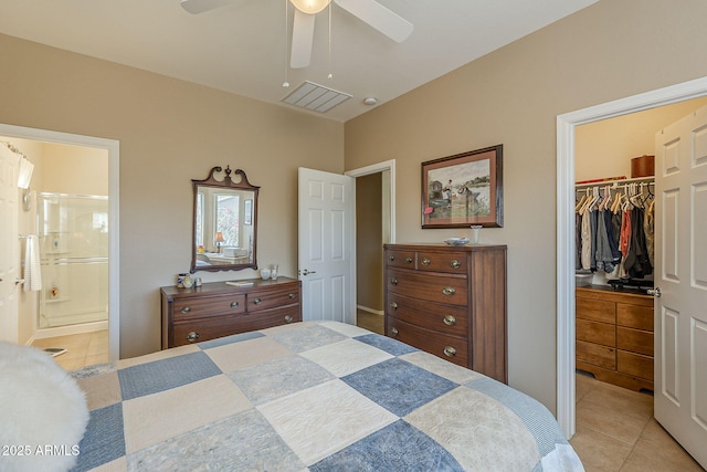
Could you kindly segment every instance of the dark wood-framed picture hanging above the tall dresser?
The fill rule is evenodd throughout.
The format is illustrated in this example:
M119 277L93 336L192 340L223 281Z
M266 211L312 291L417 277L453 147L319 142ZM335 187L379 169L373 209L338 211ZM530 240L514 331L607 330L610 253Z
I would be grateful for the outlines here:
M422 228L503 228L503 144L422 162Z

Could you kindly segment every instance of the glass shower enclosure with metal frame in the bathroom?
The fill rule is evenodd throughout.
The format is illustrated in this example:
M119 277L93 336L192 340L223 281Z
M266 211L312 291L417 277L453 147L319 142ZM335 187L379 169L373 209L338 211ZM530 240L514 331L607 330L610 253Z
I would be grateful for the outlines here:
M108 198L38 193L38 326L108 319Z

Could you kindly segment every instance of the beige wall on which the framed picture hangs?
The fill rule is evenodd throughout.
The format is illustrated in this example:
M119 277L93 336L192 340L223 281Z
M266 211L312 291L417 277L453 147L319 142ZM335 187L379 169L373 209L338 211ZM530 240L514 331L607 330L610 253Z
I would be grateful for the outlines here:
M420 164L504 145L509 384L556 408L556 117L707 75L707 2L602 0L346 124L346 169L395 159L398 242L420 228Z

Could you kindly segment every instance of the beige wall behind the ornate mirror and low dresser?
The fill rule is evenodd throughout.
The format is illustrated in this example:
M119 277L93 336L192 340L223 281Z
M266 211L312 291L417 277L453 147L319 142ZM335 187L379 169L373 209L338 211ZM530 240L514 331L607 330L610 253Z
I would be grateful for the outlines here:
M344 171L342 124L7 35L0 61L0 123L120 143L122 357L160 347L159 287L189 269L191 179L213 166L261 186L258 261L296 276L297 167Z

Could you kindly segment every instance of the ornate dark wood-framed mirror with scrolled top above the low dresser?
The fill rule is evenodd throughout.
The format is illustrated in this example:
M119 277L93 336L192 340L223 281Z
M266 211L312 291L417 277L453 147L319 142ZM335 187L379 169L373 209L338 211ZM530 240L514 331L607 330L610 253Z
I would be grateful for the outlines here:
M223 180L215 178L223 172ZM191 272L257 269L257 191L245 172L214 167L204 180L191 180L194 192Z

